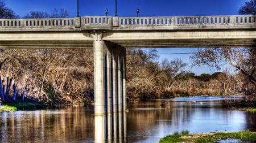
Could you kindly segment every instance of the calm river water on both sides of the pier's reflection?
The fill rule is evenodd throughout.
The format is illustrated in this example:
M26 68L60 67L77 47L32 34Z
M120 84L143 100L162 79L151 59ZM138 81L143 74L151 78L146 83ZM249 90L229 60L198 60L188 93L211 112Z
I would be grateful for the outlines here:
M225 109L223 99L191 97L129 103L123 138L116 142L158 142L161 137L183 130L256 131L255 113ZM93 112L93 106L74 106L0 113L0 142L95 142L94 127L98 122L95 124Z

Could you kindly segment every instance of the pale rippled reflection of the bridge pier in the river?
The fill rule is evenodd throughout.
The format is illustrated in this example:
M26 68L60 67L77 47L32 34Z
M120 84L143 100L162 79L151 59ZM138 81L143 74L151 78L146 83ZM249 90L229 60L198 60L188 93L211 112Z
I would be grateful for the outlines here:
M127 142L126 112L95 116L95 142Z

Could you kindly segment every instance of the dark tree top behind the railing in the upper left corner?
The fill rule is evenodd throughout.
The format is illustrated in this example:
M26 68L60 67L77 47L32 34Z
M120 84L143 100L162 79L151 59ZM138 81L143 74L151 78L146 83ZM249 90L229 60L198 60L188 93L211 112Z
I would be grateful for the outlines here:
M13 10L6 7L5 2L0 1L0 19L16 19L19 18Z

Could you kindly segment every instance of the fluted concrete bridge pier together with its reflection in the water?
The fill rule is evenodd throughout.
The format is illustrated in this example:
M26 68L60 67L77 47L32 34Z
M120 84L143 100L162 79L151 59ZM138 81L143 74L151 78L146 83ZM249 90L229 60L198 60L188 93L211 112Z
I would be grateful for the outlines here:
M102 33L92 37L95 142L126 142L126 50L102 41Z

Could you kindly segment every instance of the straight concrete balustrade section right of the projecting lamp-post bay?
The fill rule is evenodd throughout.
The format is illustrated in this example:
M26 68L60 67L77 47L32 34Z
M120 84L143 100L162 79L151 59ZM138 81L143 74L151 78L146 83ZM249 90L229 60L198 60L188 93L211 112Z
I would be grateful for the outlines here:
M191 29L191 28L251 28L256 27L256 15L175 16L159 18L119 18L121 29Z

